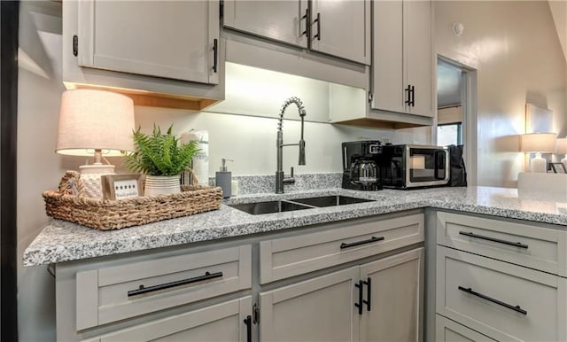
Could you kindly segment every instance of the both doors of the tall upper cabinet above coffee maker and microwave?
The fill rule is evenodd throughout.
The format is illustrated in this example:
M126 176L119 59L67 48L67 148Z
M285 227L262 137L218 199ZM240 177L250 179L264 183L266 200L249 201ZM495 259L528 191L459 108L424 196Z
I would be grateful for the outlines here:
M376 0L373 109L431 117L431 1Z

